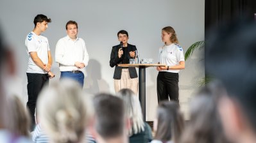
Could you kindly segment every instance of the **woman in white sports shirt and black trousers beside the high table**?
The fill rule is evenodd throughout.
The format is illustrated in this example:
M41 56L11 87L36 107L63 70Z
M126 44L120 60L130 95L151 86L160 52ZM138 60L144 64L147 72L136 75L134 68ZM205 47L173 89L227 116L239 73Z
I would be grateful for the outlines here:
M158 66L157 70L157 99L158 103L163 100L178 100L178 73L185 68L183 49L178 45L178 38L171 26L162 29L162 41L164 46L160 47L158 63L166 66Z

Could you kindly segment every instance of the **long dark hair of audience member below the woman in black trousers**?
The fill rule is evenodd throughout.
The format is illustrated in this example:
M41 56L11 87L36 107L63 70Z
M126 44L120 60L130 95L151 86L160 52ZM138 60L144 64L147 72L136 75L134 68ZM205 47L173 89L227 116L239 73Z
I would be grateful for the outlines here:
M157 108L157 132L155 139L167 142L178 142L184 128L180 106L176 102L160 102Z

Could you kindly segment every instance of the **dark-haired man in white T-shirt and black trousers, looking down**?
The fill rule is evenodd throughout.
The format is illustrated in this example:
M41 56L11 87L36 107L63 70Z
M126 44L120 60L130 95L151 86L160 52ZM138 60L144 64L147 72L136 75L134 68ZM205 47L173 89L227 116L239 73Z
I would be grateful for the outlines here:
M48 27L48 19L46 15L37 15L34 19L35 28L31 31L25 40L28 52L28 69L26 71L28 77L28 103L32 119L31 130L35 126L35 107L37 103L38 93L44 84L49 83L49 78L55 77L51 72L52 57L49 49L49 42L41 33L46 31Z

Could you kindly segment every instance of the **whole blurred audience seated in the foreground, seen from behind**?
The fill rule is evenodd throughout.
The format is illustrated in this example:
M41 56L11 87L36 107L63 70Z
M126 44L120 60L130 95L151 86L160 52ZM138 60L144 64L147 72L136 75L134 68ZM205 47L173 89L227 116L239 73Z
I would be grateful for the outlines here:
M6 96L4 78L15 74L13 54L0 36L0 142L203 143L256 142L256 25L235 22L212 33L206 68L218 82L192 97L189 121L175 101L160 102L153 134L130 89L87 98L78 82L46 86L37 101L37 126L19 96Z

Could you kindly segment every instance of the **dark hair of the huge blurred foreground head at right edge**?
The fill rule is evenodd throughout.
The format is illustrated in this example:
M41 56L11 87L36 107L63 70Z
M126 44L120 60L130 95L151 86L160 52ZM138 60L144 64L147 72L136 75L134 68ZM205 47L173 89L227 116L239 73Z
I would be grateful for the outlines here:
M256 132L256 24L239 19L212 29L205 47L206 72L223 82Z

